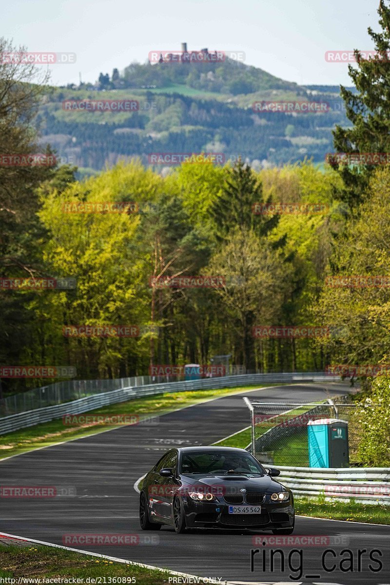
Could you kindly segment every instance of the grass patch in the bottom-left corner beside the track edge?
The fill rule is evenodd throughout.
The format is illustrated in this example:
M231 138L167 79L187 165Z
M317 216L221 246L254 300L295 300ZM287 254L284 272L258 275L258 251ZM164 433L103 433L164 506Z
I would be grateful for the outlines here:
M153 548L153 547L152 547ZM108 556L115 556L115 546L109 546ZM151 550L151 557L153 551ZM137 565L116 563L96 556L81 555L70 550L42 545L0 544L0 577L134 577L137 585L163 585L170 573L146 569ZM5 581L3 581L5 582ZM106 582L109 582L107 579ZM114 581L115 582L115 581ZM128 582L131 582L130 579Z

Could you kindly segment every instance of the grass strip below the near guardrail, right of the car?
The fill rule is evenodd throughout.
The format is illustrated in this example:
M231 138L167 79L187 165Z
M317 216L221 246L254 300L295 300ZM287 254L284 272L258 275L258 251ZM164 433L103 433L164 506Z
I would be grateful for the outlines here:
M367 522L368 524L390 524L390 507L381 504L362 504L354 500L325 501L325 497L295 497L295 514L331 520L349 522Z

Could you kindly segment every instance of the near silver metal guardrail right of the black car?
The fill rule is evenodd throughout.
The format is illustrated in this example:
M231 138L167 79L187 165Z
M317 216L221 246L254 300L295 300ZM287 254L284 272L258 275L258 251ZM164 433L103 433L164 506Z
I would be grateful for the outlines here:
M346 501L353 498L364 504L390 505L390 467L278 466L278 469L282 483L295 495L325 495L326 499Z

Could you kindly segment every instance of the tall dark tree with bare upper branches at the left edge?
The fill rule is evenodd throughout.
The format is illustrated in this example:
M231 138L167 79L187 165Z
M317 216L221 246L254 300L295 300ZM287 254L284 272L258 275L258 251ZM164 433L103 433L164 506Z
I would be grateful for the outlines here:
M23 61L25 47L13 47L0 39L0 274L2 277L42 275L40 240L44 230L36 219L39 201L36 188L53 177L53 166L13 163L13 156L27 156L39 149L35 116L48 81L46 73ZM6 162L10 157L11 164ZM52 160L54 161L54 159ZM0 362L18 363L21 348L32 328L33 315L28 301L33 293L0 290L0 326L4 343ZM13 384L13 382L11 382ZM9 387L9 381L4 383ZM1 394L1 388L0 388ZM0 396L1 398L1 396Z

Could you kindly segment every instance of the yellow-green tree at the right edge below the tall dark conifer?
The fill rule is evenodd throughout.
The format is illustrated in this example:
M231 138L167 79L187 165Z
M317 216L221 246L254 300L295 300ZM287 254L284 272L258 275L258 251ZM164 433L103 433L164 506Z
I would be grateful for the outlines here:
M366 201L337 239L327 280L313 311L336 335L325 340L334 363L378 364L390 359L390 169L371 177ZM334 286L333 277L378 277L384 281L346 281ZM336 281L337 284L337 281Z

